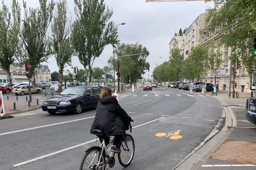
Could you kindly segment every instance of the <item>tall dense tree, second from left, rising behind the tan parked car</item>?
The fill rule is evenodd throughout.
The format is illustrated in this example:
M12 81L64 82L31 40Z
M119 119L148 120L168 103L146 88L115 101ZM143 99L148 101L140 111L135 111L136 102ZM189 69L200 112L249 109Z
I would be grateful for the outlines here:
M13 0L16 4L12 6L15 16L15 24L19 25L20 7L17 0ZM52 12L55 3L51 0L47 5L47 0L39 0L38 8L26 7L23 1L24 18L22 26L19 25L18 48L15 57L18 61L32 65L30 73L35 77L35 68L40 68L42 62L46 62L52 56L52 45L50 38L47 36L47 29L52 21ZM34 83L35 85L35 79Z

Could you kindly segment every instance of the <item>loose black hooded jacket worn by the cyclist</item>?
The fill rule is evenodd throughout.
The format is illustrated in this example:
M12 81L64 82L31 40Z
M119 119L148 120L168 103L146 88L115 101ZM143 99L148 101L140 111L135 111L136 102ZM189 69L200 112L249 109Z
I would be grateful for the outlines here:
M102 97L99 99L90 133L99 129L106 136L124 135L125 128L122 118L131 120L131 117L118 104L116 98L113 96Z

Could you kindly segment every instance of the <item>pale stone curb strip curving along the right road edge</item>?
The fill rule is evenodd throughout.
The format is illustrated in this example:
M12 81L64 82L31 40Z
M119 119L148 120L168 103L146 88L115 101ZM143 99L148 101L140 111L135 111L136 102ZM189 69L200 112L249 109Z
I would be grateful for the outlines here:
M218 97L218 99L220 99ZM227 137L233 132L234 129L230 129L230 126L236 125L236 116L233 112L230 112L230 107L227 103L221 99L221 105L223 106L223 114L226 117L225 125L221 130L217 132L212 130L212 133L204 139L198 147L196 147L189 155L176 165L172 170L199 170L205 161L223 144ZM233 119L233 121L232 121ZM221 119L220 119L221 120ZM218 126L218 125L216 125ZM214 132L215 131L215 132Z

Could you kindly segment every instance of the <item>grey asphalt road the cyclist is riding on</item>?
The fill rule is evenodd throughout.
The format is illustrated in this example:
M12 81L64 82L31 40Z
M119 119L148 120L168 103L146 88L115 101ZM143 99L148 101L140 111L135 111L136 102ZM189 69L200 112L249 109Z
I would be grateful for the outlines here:
M129 170L172 170L212 132L223 112L217 99L177 89L129 91L119 103L134 117L135 155ZM0 169L78 170L84 150L99 144L90 142L96 139L90 134L95 113L50 115L39 109L0 120ZM168 132L182 138L155 136ZM112 169L124 169L117 157Z

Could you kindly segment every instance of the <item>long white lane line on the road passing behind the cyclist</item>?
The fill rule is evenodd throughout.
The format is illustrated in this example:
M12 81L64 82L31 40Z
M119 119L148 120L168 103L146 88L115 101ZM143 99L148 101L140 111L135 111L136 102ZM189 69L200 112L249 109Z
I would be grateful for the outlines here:
M94 117L94 116L93 116L93 117ZM151 120L151 121L149 121L149 122L145 122L145 123L143 123L143 124L134 126L134 127L132 127L132 128L140 127L140 126L146 125L146 124L151 123L151 122L155 122L155 121L160 120L160 119L163 119L163 118L165 118L165 117L160 117L160 118L158 118L158 119L154 119L154 120ZM61 153L61 152L64 152L64 151L67 151L67 150L70 150L70 149L73 149L73 148L76 148L76 147L80 147L80 146L82 146L82 145L84 145L84 144L89 144L89 143L95 142L95 141L96 141L96 139L93 139L93 140L90 140L90 141L87 141L87 142L84 142L84 143L81 143L81 144L77 144L77 145L72 146L72 147L68 147L68 148L65 148L65 149L62 149L62 150L58 150L58 151L53 152L53 153L49 153L49 154L47 154L47 155L43 155L43 156L40 156L40 157L37 157L37 158L34 158L34 159L30 159L30 160L28 160L28 161L24 161L24 162L21 162L21 163L12 165L12 166L18 167L18 166L23 165L23 164L28 164L28 163L30 163L30 162L32 162L32 161L36 161L36 160L38 160L38 159L43 159L43 158L46 158L46 157L48 157L48 156L52 156L52 155L55 155L55 154L57 154L57 153Z

